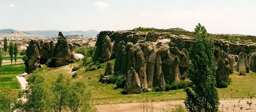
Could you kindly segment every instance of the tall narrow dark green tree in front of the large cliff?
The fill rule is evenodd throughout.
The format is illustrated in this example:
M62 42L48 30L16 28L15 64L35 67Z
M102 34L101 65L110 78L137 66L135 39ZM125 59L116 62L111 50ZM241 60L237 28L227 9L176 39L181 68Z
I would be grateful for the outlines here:
M184 103L189 111L218 111L213 41L200 23L194 33L195 43L189 49L188 68L192 86L185 89L187 97Z

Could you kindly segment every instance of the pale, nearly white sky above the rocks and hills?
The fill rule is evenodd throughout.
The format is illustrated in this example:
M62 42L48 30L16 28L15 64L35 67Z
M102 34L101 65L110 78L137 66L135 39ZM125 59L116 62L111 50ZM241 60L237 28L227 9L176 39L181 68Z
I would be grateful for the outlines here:
M182 28L256 35L255 0L0 0L0 29Z

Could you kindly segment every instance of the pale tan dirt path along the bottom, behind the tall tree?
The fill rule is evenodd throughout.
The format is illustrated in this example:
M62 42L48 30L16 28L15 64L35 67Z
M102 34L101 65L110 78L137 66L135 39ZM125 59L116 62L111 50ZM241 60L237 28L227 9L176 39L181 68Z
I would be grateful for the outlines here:
M219 105L219 110L222 111L241 111L239 107L243 107L242 111L256 111L256 99L252 99L251 110L249 110L249 105L246 104L246 101L250 99L241 100L238 106L239 100L221 100ZM144 105L143 105L144 104ZM123 103L123 104L113 104L113 105L98 105L96 108L98 111L104 112L143 112L143 107L148 111L163 111L164 109L170 110L170 108L175 107L175 105L183 105L183 100L179 101L169 101L169 102L147 102L147 103ZM234 106L235 105L235 106ZM184 106L184 105L183 105ZM147 108L148 107L148 108Z

